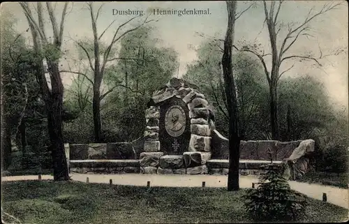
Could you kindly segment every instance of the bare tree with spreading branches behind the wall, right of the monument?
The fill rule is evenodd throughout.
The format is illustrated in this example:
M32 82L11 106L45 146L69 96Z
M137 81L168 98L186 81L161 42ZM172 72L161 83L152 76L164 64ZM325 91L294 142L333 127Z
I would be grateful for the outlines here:
M329 10L334 10L338 8L341 3L325 3L318 12L313 13L314 8L309 10L308 15L306 15L303 22L300 24L288 23L287 28L288 31L286 36L283 38L281 46L277 45L277 39L280 36L279 31L285 27L281 21L279 21L279 13L281 12L281 7L285 1L271 1L270 7L267 6L266 1L263 1L264 11L265 11L265 22L267 23L267 29L269 33L269 41L272 47L271 54L265 54L264 51L260 52L256 50L255 47L246 47L244 46L242 50L246 52L251 52L255 54L262 66L265 70L265 75L267 77L267 81L269 83L269 96L270 96L270 121L272 126L272 139L279 140L279 120L278 120L278 106L277 106L277 86L280 80L280 77L288 72L288 70L292 69L294 64L289 68L280 72L281 65L283 62L288 61L290 59L299 59L299 61L310 60L315 62L318 66L322 66L319 59L325 58L329 55L333 54L322 54L320 49L320 57L313 57L310 54L291 54L287 55L291 47L299 40L300 36L311 36L308 32L310 27L309 23L313 21L316 17L327 13ZM334 54L339 54L341 51L336 51ZM265 64L265 57L271 55L272 56L272 68L267 68Z

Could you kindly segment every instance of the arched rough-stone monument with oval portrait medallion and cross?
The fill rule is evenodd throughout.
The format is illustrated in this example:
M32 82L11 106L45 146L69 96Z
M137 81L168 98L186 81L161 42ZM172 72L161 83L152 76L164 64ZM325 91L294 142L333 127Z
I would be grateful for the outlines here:
M185 174L188 168L200 166L195 172L207 173L214 112L198 87L172 78L148 105L144 153L140 155L144 173L155 172L149 164L158 167L157 172Z

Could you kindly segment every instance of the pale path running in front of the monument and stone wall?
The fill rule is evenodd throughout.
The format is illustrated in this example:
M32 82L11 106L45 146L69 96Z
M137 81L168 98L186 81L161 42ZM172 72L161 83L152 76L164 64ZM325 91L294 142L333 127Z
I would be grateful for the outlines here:
M223 175L157 175L157 174L76 174L70 173L75 181L85 182L89 177L90 183L109 183L112 179L113 184L147 186L147 181L151 186L168 187L200 187L202 181L205 181L207 187L227 186L228 177ZM1 177L1 181L33 180L38 176L16 176ZM53 179L50 175L43 175L42 179ZM251 188L253 182L258 182L257 177L240 176L240 188ZM340 207L349 209L349 190L336 188L334 186L324 186L320 184L307 184L297 181L288 181L292 189L303 193L316 200L322 200L322 193L327 193L327 202L336 204Z

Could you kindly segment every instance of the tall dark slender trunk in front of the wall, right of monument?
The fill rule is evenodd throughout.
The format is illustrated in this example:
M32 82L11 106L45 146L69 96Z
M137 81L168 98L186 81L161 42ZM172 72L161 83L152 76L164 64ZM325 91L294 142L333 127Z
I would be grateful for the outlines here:
M237 114L237 95L232 74L232 45L234 43L235 11L237 1L226 1L228 10L228 28L225 34L222 57L223 78L225 82L225 96L229 115L229 173L228 191L239 190L239 122Z

